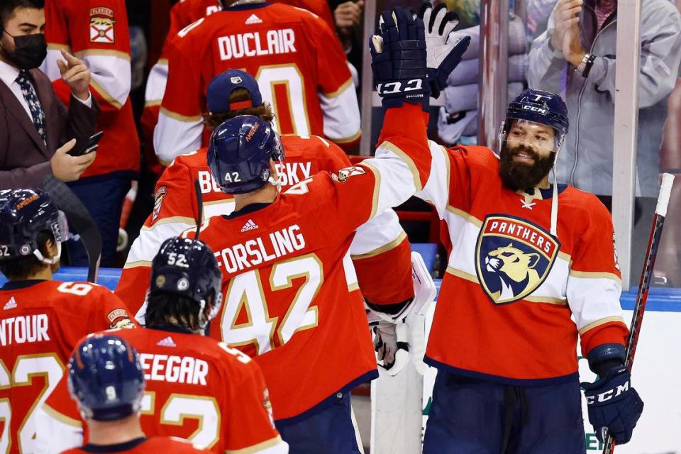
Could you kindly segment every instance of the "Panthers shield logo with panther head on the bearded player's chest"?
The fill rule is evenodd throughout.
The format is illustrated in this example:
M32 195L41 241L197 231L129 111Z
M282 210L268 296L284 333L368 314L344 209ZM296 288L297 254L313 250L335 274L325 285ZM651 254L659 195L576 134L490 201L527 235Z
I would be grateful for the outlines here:
M491 214L477 237L475 270L494 304L507 304L534 292L553 266L560 242L521 218Z

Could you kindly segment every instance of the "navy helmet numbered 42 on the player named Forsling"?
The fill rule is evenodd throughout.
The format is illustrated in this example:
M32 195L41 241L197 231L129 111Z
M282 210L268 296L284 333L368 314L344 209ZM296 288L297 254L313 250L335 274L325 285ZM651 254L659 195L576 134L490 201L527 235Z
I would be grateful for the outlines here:
M218 126L208 148L208 165L226 194L244 194L270 180L270 159L284 160L279 134L262 118L243 115Z

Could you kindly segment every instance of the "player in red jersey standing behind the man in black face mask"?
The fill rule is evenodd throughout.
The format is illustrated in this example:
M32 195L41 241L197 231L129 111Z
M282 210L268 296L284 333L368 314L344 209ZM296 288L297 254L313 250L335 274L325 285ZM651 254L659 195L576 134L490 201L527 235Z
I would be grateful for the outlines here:
M101 105L97 129L104 131L99 153L84 178L72 184L99 228L101 265L114 266L123 199L140 168L138 139L130 97L130 34L123 0L47 0L48 56L45 73L57 95L66 102L67 89L59 79L57 57L70 49L92 72L93 96ZM72 265L87 265L87 254L70 243Z

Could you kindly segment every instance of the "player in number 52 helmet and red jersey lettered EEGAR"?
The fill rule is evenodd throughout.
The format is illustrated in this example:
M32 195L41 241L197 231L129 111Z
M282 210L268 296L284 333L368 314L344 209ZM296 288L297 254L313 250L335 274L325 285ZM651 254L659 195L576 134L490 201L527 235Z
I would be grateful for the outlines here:
M204 337L220 311L221 277L213 251L200 240L170 238L154 258L147 328L135 330L137 336L116 333L140 353L147 382L142 428L148 435L187 438L216 454L286 454L260 367L240 351ZM39 436L75 432L70 438L78 433L87 438L63 383L44 408L59 417L41 418ZM199 431L197 420L203 421Z

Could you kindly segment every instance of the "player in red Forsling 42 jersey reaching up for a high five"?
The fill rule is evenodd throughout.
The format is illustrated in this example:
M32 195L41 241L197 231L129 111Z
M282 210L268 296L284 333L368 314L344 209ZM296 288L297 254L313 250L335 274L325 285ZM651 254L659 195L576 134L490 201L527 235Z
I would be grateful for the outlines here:
M260 364L275 424L295 453L358 453L348 392L377 371L350 243L362 223L422 189L414 162L430 168L423 26L410 13L401 20L404 33L386 38L392 52L380 62L382 80L392 84L384 90L380 159L320 172L279 193L270 177L284 153L269 123L239 116L211 137L209 167L236 204L201 233L223 272L225 303L213 328ZM443 73L463 44L448 50ZM402 314L416 309L401 306Z

